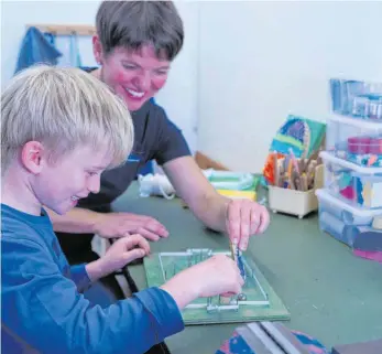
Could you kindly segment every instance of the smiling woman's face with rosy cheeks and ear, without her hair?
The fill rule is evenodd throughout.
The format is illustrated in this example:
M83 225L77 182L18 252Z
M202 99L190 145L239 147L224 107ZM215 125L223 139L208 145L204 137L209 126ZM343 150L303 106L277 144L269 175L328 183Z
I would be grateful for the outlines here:
M101 79L123 98L131 111L140 109L167 79L171 63L160 60L149 45L135 53L118 47L105 56L95 37L94 51L102 65Z

